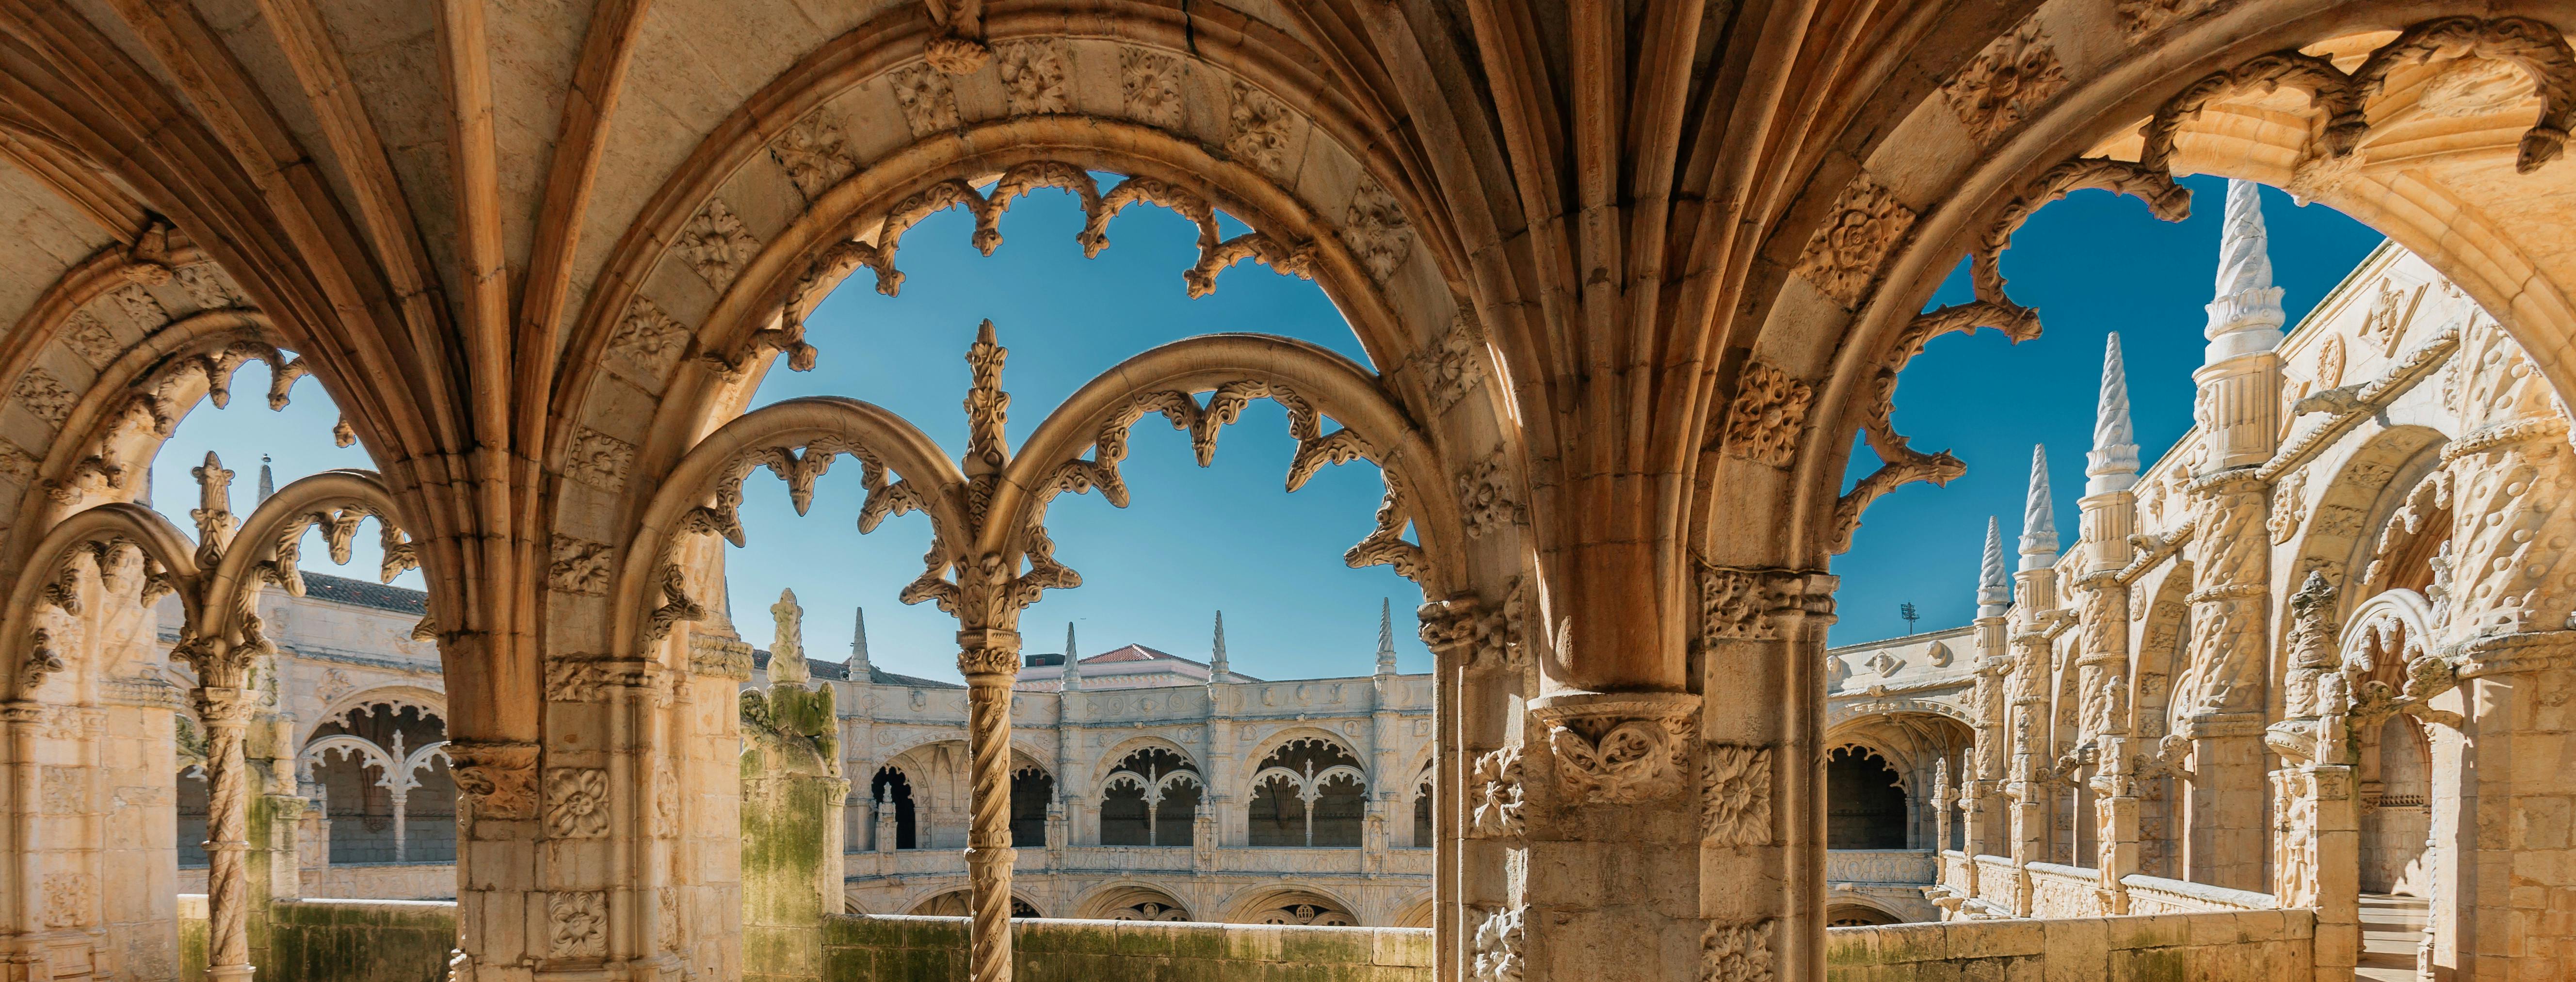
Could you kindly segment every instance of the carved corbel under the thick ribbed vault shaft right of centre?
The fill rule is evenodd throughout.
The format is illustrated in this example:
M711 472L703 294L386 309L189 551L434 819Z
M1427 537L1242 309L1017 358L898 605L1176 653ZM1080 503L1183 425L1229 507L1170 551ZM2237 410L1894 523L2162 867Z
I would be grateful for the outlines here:
M1669 799L1685 781L1698 698L1687 693L1574 693L1530 706L1569 804Z

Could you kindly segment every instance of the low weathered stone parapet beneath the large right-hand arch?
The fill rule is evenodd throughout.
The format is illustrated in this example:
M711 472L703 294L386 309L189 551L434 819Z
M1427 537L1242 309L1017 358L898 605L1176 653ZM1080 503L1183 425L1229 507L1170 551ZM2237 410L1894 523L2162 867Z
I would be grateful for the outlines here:
M2311 977L2313 910L1829 928L1832 982Z

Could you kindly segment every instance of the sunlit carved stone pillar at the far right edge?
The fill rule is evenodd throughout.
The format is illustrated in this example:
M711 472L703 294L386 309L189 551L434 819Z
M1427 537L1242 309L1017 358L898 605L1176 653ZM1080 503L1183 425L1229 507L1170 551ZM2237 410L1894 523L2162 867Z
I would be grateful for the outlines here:
M2445 979L2548 979L2576 964L2576 459L2555 394L2501 327L2465 325L2460 430L2437 479L2452 536L2434 570L2437 637L2458 673L2458 799L2434 794ZM2411 665L2432 678L2442 665ZM2421 686L2421 683L2419 683ZM2414 686L2411 686L2414 688ZM2447 763L2445 758L2437 758ZM2442 814L2450 812L2450 814Z

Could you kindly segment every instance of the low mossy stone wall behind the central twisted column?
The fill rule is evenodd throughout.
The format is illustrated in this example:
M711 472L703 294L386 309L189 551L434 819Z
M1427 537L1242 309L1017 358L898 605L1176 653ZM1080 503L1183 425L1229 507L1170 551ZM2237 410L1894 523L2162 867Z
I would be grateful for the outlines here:
M1432 933L1149 920L1015 920L1015 982L1430 982ZM966 977L966 918L827 918L824 977Z

